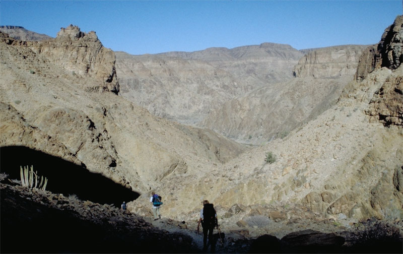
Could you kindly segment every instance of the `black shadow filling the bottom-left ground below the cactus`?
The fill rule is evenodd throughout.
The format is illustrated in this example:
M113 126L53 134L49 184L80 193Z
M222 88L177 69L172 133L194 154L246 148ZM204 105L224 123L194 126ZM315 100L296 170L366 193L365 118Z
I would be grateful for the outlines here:
M84 220L72 210L1 190L1 253L194 253L190 237L153 229L133 217ZM46 199L46 198L45 198ZM117 210L119 211L119 210ZM116 215L115 215L116 216ZM132 215L127 215L132 216ZM110 223L110 220L114 223ZM180 242L179 239L182 239Z

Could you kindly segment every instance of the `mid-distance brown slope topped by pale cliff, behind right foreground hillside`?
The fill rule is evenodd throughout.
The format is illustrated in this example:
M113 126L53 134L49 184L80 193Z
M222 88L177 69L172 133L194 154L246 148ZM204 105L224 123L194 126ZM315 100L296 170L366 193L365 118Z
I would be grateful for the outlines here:
M310 51L295 66L296 78L229 100L211 110L201 125L255 145L284 138L337 101L353 80L364 48L347 45Z

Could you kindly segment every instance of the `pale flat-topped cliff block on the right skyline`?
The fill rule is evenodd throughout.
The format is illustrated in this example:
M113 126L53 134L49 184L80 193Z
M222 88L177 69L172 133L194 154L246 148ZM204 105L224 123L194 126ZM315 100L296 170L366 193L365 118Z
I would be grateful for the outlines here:
M309 51L294 67L294 77L352 77L365 48L364 45L343 45Z

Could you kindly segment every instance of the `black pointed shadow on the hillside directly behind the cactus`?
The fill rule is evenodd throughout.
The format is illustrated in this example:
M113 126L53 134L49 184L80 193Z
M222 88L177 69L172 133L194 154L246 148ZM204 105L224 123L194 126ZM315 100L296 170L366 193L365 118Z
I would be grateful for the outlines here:
M20 166L33 165L34 171L47 177L46 190L63 195L77 195L80 200L90 200L117 207L123 201L137 199L133 192L111 179L91 173L85 167L61 158L23 146L0 147L0 170L11 179L21 179Z

